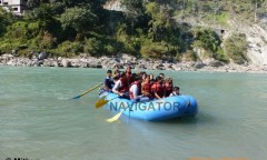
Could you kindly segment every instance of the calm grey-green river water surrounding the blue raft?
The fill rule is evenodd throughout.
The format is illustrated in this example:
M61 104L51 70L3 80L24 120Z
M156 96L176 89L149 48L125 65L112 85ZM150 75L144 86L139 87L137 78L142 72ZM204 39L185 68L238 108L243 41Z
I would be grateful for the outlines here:
M159 71L147 71L158 74ZM147 122L101 108L101 69L0 67L0 160L265 160L267 74L164 71L195 118Z

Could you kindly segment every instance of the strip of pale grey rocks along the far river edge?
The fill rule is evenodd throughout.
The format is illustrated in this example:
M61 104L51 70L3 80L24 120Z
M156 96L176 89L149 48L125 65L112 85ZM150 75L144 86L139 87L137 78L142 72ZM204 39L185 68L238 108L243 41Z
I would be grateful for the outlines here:
M136 59L128 54L118 57L89 57L80 54L75 58L48 58L46 53L40 53L32 58L21 58L13 54L0 56L0 66L19 67L62 67L62 68L103 68L110 69L118 64L121 69L131 66L137 70L175 70L175 71L220 71L220 72L257 72L267 73L267 66L238 66L235 63L226 64L224 62L207 59L204 61L189 62L166 62L152 59Z

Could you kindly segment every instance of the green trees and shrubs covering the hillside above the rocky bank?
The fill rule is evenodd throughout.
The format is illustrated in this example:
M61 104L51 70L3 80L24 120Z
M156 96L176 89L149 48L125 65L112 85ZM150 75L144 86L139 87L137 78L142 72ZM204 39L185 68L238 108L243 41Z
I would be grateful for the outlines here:
M0 8L0 53L18 50L46 51L52 57L115 56L120 52L145 58L197 60L194 48L205 57L225 62L247 61L244 36L226 40L208 28L186 21L227 24L229 17L241 20L264 16L265 0L121 0L123 12L106 10L106 0L28 0L30 9L16 17ZM239 42L239 43L233 43ZM189 54L189 56L188 56ZM238 54L238 56L237 56Z

